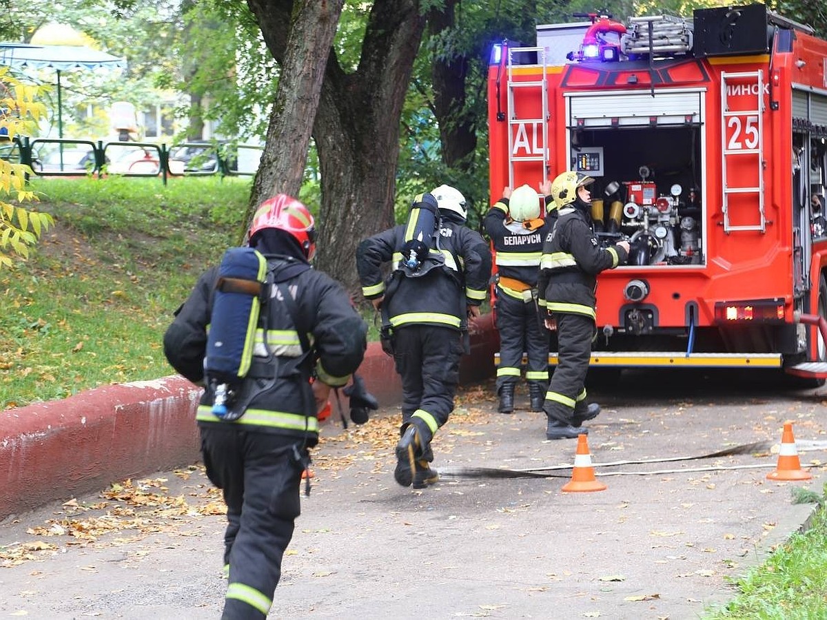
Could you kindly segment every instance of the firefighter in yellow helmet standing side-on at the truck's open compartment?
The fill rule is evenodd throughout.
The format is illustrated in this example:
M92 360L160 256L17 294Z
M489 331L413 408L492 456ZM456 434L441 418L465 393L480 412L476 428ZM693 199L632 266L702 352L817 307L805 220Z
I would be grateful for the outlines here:
M557 329L557 368L548 386L543 411L547 439L586 434L583 422L597 417L600 406L586 403L586 372L595 337L597 274L629 258L629 241L600 247L591 220L586 174L564 172L552 183L557 223L543 244L538 287L547 310L547 326Z

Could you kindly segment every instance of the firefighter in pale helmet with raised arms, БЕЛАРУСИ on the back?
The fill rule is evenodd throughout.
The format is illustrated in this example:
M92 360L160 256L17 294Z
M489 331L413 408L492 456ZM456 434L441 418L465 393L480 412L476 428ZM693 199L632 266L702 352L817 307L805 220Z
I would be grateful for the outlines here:
M543 241L557 219L552 182L543 181L547 217L540 217L536 190L522 185L504 188L485 215L483 224L495 250L495 317L500 332L497 393L500 413L514 412L514 389L519 383L523 351L528 355L525 379L532 411L543 411L548 387L548 337L538 315L537 278Z

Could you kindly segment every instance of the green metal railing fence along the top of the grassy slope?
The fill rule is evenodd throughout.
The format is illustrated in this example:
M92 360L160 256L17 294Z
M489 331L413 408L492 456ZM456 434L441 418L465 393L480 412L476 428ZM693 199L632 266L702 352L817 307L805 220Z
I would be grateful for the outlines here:
M0 143L0 158L25 164L38 177L250 176L262 146L218 142L164 143L91 141L15 136Z

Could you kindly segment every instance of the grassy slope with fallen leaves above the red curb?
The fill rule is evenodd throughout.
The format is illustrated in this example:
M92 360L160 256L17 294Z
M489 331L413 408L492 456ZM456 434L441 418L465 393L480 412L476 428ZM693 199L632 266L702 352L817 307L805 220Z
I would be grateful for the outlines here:
M237 243L249 179L34 179L55 217L0 271L0 409L173 371L161 338Z

